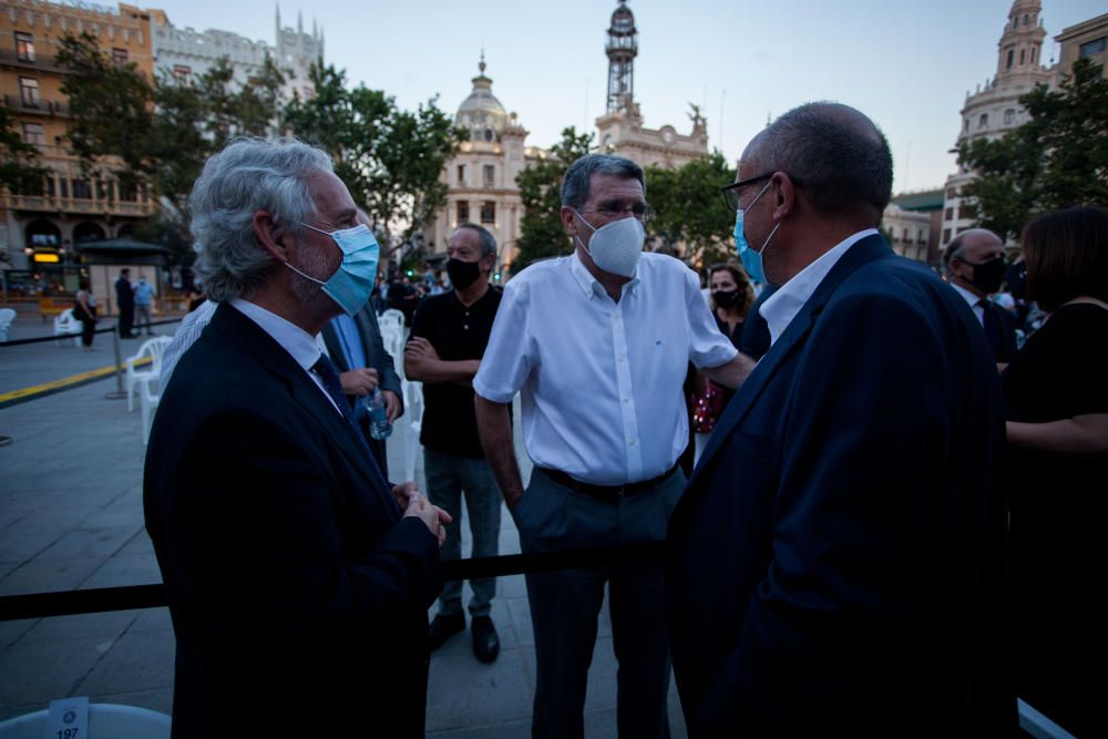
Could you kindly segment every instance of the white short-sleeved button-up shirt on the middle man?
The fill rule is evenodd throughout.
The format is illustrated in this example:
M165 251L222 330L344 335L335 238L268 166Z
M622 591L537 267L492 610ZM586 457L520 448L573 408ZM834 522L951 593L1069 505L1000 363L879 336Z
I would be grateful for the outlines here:
M663 474L688 443L689 360L719 367L737 353L677 259L644 254L615 302L574 253L504 287L473 389L496 403L522 393L535 464L619 485Z

